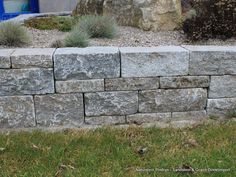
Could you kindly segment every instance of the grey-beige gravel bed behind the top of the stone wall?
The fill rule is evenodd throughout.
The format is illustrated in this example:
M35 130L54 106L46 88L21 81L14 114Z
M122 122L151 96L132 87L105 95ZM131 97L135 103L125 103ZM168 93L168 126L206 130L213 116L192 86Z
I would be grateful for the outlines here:
M37 30L28 28L29 34L32 36L30 48L50 47L52 42L57 39L63 39L67 33L57 30ZM212 39L208 41L200 41L189 43L186 41L182 31L166 31L152 32L143 31L133 27L119 27L119 34L115 39L91 39L90 46L117 46L117 47L151 47L164 45L236 45L236 38L228 40ZM0 46L6 48L6 46ZM8 47L9 48L9 47Z

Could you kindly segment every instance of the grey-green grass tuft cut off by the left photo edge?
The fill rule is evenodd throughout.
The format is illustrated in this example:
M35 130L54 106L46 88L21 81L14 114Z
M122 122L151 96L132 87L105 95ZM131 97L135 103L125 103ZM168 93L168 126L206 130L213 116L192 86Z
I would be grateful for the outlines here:
M30 43L30 37L25 27L15 22L0 24L0 45L20 47Z

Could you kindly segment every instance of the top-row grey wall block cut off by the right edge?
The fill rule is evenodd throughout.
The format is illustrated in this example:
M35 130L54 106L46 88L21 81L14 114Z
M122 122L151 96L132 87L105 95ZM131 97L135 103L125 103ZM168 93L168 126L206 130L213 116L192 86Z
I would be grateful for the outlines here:
M190 75L236 74L235 46L184 46L190 50Z

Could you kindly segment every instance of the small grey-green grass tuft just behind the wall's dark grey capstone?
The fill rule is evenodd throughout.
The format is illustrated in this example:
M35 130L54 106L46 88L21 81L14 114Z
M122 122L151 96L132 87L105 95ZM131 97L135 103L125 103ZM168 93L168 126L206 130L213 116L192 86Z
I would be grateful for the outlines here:
M89 35L76 26L65 37L64 43L66 47L87 47L89 44Z

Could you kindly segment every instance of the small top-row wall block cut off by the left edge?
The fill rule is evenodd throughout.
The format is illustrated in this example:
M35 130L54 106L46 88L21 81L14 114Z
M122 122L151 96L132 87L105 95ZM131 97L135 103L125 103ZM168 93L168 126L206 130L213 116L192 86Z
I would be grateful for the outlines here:
M11 49L0 49L0 69L11 67L10 55L13 51Z

